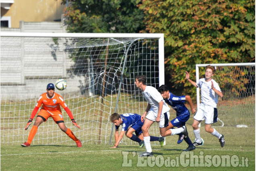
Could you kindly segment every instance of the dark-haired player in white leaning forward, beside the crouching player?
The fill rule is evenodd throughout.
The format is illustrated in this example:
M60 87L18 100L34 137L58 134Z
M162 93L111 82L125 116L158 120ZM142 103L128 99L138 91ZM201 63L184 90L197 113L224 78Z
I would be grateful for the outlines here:
M163 137L180 133L184 133L184 136L187 136L187 128L185 126L174 130L166 130L166 127L169 125L170 108L164 102L162 95L158 92L156 88L146 85L146 80L147 78L145 75L137 75L135 77L136 87L142 90L142 95L148 102L146 111L141 117L142 122L144 122L142 126L142 132L144 136L146 152L140 156L144 157L153 155L148 129L154 122L159 123L160 135ZM146 116L147 113L148 115Z

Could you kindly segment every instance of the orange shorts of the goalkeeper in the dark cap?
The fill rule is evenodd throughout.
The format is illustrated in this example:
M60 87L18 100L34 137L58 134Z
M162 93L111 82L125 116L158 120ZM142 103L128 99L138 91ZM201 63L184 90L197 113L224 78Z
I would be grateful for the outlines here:
M39 111L37 117L41 117L44 120L44 122L46 122L49 117L52 117L52 119L54 120L54 122L56 124L64 122L62 114L58 110L56 110L56 111L48 111L48 110L45 110L45 109L41 109Z

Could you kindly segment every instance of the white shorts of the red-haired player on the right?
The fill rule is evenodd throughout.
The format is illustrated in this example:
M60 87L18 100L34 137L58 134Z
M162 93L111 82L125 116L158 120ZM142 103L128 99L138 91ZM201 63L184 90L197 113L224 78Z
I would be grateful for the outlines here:
M199 109L194 115L194 119L202 121L205 119L205 124L213 124L217 122L217 108L200 103Z

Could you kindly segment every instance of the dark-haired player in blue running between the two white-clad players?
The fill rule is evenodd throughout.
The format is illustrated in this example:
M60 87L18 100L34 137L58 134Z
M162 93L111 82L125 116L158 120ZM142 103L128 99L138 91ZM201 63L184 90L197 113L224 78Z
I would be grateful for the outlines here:
M192 113L195 113L196 110L193 107L192 100L189 95L185 96L176 96L171 93L167 87L167 85L161 85L158 89L159 93L164 98L164 101L170 105L176 111L176 118L169 122L169 126L167 126L167 130L172 129L173 127L180 128L185 126L187 120L189 119L190 113L187 107L184 105L184 102L187 101L190 105ZM185 151L194 150L196 147L191 142L189 136L184 137L183 133L178 134L178 144L180 144L183 139L189 145Z

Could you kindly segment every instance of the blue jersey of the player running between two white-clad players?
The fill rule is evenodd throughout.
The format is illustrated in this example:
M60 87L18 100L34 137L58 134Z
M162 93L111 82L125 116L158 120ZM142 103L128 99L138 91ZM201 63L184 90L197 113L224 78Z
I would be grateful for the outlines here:
M164 101L176 111L177 116L190 115L189 110L184 105L185 96L176 96L171 92L169 95L169 99L164 99Z

